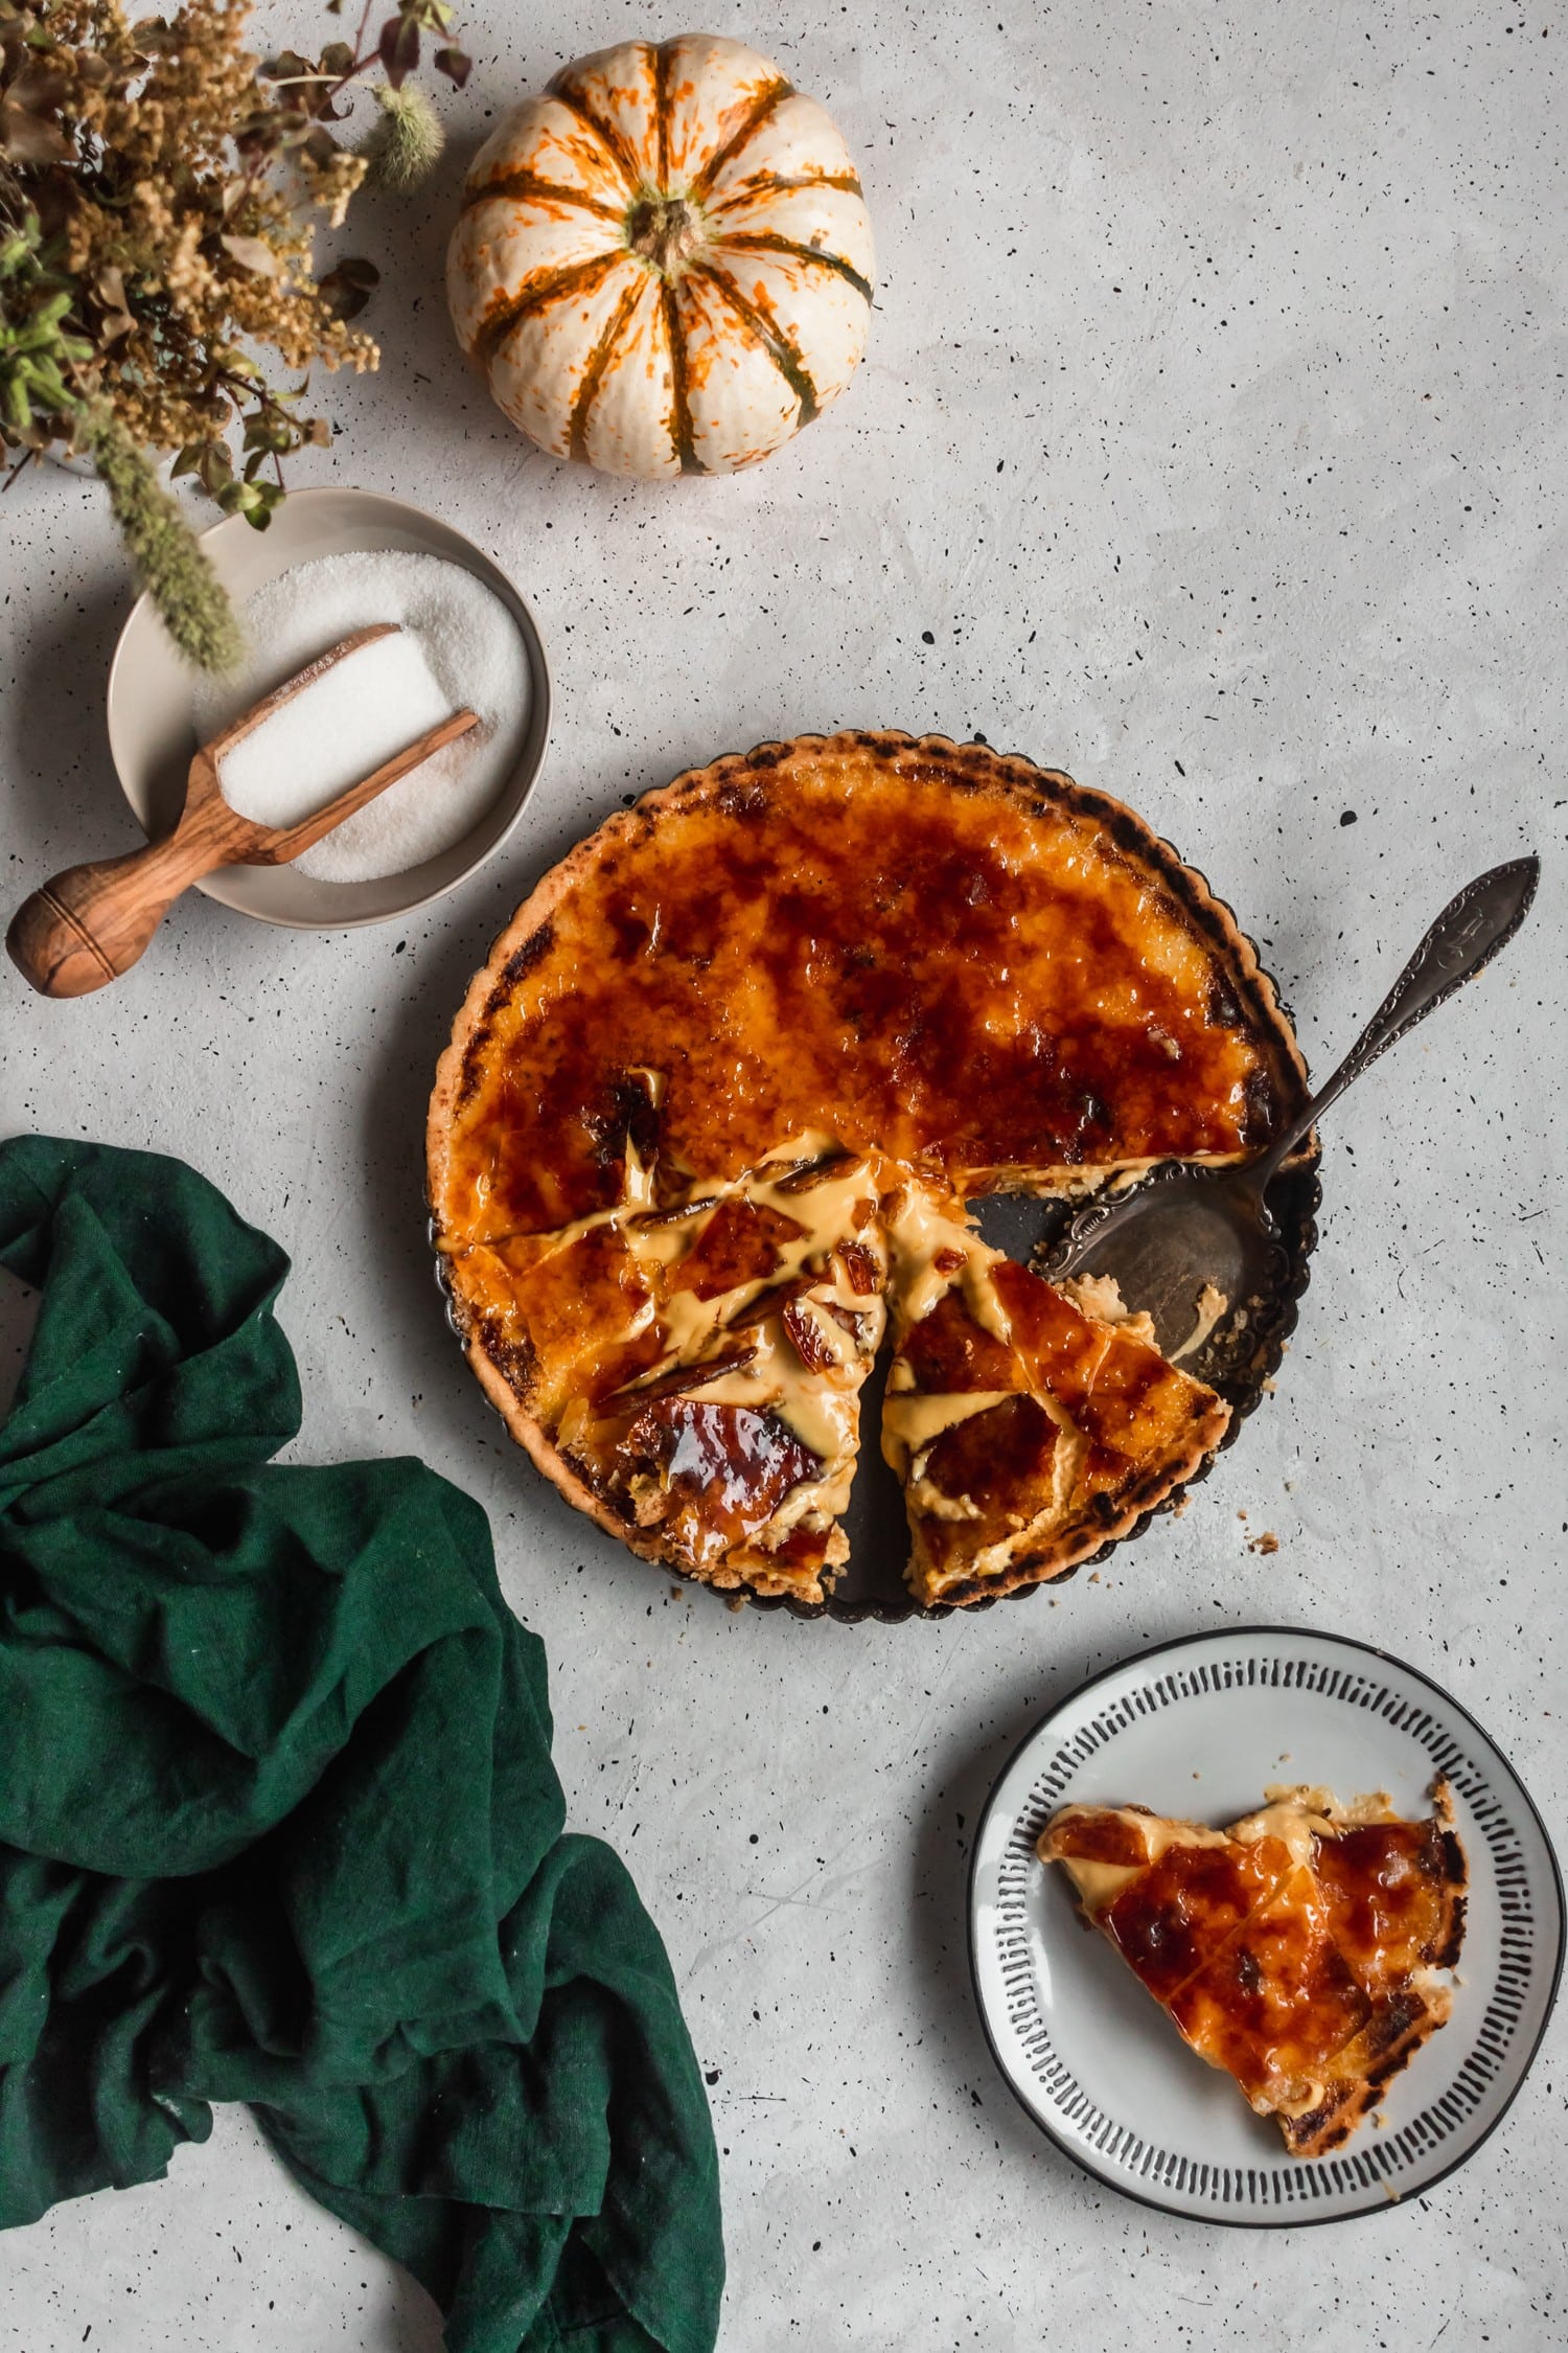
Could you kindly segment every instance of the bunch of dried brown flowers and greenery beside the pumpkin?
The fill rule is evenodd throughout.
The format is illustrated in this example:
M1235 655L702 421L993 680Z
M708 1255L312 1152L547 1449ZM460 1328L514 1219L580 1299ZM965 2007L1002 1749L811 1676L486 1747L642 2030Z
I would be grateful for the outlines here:
M341 261L317 278L313 233L343 221L369 169L411 186L440 153L428 101L404 85L451 9L395 0L378 31L371 9L353 45L261 61L249 0L141 21L120 0L0 0L0 438L21 459L94 456L165 621L205 666L237 645L233 616L207 569L214 609L193 619L200 572L146 452L174 454L176 475L263 527L282 459L327 440L324 419L301 414L306 384L270 384L263 355L301 376L376 365L350 325L376 271ZM433 64L468 78L454 47ZM355 153L334 127L371 68L381 115Z

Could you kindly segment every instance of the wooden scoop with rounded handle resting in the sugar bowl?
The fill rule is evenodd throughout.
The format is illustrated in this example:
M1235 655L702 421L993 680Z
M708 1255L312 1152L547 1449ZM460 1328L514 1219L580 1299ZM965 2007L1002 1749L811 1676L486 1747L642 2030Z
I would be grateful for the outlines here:
M244 711L212 744L202 744L186 779L181 821L167 840L146 842L120 859L68 866L66 873L54 875L31 899L24 899L12 915L5 946L33 988L47 998L85 998L89 988L103 988L106 981L132 969L179 894L202 875L219 866L287 866L289 859L320 842L322 833L331 833L376 793L386 793L388 784L397 784L411 767L428 760L442 744L477 727L473 711L454 711L440 727L418 736L407 751L386 760L360 784L350 784L346 793L313 809L296 826L256 826L228 807L219 784L219 762L240 736L261 727L280 704L301 694L322 671L395 631L397 621L357 628L320 661L287 678L266 701Z

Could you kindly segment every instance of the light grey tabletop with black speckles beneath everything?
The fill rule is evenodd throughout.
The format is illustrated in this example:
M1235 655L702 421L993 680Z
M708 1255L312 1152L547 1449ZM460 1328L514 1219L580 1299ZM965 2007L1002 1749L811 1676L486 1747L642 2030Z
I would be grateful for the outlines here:
M1535 5L724 0L705 21L778 54L863 155L872 353L762 471L639 489L489 409L440 254L489 108L686 16L463 16L480 64L428 207L350 240L393 261L386 365L329 391L341 440L299 480L440 508L534 602L559 725L531 826L407 927L289 936L193 899L113 993L0 979L5 1127L193 1158L294 1254L303 1459L411 1447L489 1506L550 1647L574 1821L628 1854L712 2082L731 2353L1561 2344L1561 2026L1418 2207L1182 2226L1013 2108L964 1871L1053 1697L1255 1619L1436 1675L1563 1842L1568 31ZM277 40L308 21L263 9ZM24 478L7 522L19 896L129 840L101 715L127 581L75 480ZM672 1600L576 1520L458 1362L421 1219L430 1066L541 868L623 793L839 722L983 732L1135 802L1265 944L1319 1071L1460 880L1526 845L1547 866L1521 948L1335 1115L1298 1344L1190 1513L1060 1595L896 1631ZM169 2184L0 2242L0 2353L435 2341L237 2113Z

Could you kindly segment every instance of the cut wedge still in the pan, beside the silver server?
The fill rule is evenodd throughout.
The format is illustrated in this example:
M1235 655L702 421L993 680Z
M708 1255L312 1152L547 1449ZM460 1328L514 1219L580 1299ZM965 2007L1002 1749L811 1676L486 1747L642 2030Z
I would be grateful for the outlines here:
M1058 1289L914 1186L889 1235L882 1452L903 1480L922 1602L1060 1577L1218 1447L1229 1407L1164 1360L1112 1282Z

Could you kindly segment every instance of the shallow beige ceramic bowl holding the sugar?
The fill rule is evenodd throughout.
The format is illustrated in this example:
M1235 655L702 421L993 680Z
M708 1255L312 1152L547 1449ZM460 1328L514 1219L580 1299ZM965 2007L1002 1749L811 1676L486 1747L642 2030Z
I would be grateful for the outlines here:
M440 899L512 833L545 758L550 732L545 649L534 614L505 572L498 572L489 555L451 525L437 522L418 506L404 506L402 499L383 499L374 489L294 489L273 515L270 529L254 532L242 515L230 515L202 534L202 546L237 605L280 572L320 555L407 548L411 555L444 555L447 562L463 565L512 614L529 656L527 734L517 767L473 833L423 866L378 875L374 882L315 882L292 866L223 866L195 885L242 915L294 925L301 932L388 922ZM186 772L197 748L190 671L146 595L120 631L108 673L108 748L141 831L148 838L169 833L186 802Z

